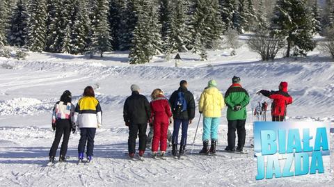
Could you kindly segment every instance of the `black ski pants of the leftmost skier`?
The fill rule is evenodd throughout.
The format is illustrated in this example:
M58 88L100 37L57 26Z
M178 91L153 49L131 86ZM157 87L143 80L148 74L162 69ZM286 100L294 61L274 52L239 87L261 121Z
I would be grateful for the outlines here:
M49 156L56 156L58 145L61 142L61 136L63 136L63 143L61 143L61 155L66 156L71 129L72 126L70 120L56 120L56 136L54 137L54 143L52 143Z

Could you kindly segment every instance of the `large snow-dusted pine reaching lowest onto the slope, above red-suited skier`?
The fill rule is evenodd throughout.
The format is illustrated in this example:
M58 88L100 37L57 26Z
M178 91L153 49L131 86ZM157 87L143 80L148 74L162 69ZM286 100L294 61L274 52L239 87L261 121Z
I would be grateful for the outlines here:
M149 63L152 56L159 52L160 25L157 10L148 0L136 3L138 22L134 29L129 63Z

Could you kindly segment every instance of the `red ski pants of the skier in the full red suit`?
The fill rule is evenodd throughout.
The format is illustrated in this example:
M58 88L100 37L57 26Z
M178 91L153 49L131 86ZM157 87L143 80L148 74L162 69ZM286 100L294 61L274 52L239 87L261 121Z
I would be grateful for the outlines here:
M160 119L159 119L160 118ZM165 118L165 119L161 119ZM160 151L166 152L167 149L167 132L168 132L169 122L166 117L154 117L153 122L153 140L152 140L152 152L157 152L159 143Z

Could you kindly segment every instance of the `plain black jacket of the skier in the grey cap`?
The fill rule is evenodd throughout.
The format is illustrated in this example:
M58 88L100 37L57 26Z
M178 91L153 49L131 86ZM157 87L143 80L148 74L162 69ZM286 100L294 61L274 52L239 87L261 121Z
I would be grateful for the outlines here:
M147 124L151 117L148 99L139 92L132 92L125 100L123 117L124 121L130 124Z

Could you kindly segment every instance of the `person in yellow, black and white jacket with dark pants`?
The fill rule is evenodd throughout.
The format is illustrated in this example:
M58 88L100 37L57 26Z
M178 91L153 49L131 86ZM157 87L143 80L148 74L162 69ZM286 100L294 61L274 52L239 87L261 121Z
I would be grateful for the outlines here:
M83 97L78 101L74 111L74 122L80 129L79 162L84 159L86 143L87 162L90 162L93 160L96 128L102 126L102 109L100 102L95 98L95 93L91 86L85 88Z

